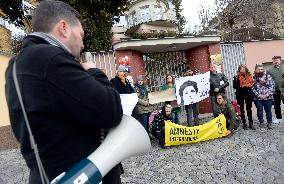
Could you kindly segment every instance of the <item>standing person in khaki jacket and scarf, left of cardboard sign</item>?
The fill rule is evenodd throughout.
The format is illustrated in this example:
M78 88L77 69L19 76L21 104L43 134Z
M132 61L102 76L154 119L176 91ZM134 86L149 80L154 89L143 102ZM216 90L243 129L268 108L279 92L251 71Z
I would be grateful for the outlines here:
M139 116L141 124L145 130L149 132L149 116L153 111L153 106L149 103L149 88L144 84L142 75L137 76L137 83L135 84L134 88L139 98L136 106L136 112Z

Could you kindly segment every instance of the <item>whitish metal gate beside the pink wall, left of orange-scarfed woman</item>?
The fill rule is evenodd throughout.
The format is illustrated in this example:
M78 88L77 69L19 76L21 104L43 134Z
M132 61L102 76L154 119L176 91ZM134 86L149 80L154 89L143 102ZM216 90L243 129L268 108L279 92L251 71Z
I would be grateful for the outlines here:
M223 56L224 74L228 77L227 97L235 100L233 88L233 77L237 74L238 66L245 64L245 54L243 43L221 43L221 53Z

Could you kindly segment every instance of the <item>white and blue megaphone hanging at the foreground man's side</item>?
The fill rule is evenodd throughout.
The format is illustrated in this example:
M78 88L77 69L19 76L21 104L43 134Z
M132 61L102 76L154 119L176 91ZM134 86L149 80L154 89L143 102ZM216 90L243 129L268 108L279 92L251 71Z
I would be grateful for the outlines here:
M146 153L151 148L144 127L133 117L123 115L120 124L109 130L104 142L51 184L96 184L118 163L128 157Z

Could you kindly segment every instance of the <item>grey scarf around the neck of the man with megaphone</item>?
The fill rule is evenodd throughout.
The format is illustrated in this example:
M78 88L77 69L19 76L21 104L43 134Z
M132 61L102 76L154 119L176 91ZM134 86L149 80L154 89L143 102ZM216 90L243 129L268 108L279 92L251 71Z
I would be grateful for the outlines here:
M30 35L40 37L44 39L47 43L54 45L56 47L59 47L63 49L66 53L73 55L70 49L66 45L64 45L61 41L59 41L57 38L55 38L51 34L47 34L43 32L34 32L34 33L31 33Z

